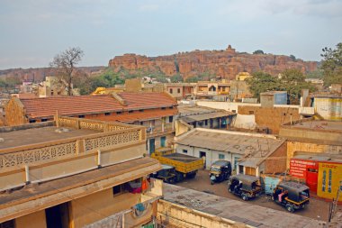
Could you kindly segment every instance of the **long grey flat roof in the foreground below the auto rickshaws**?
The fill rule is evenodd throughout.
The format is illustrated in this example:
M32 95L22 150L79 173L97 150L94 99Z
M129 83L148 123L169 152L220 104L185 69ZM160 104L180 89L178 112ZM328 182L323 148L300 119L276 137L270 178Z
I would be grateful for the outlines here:
M324 227L325 222L164 183L164 200L254 227Z

